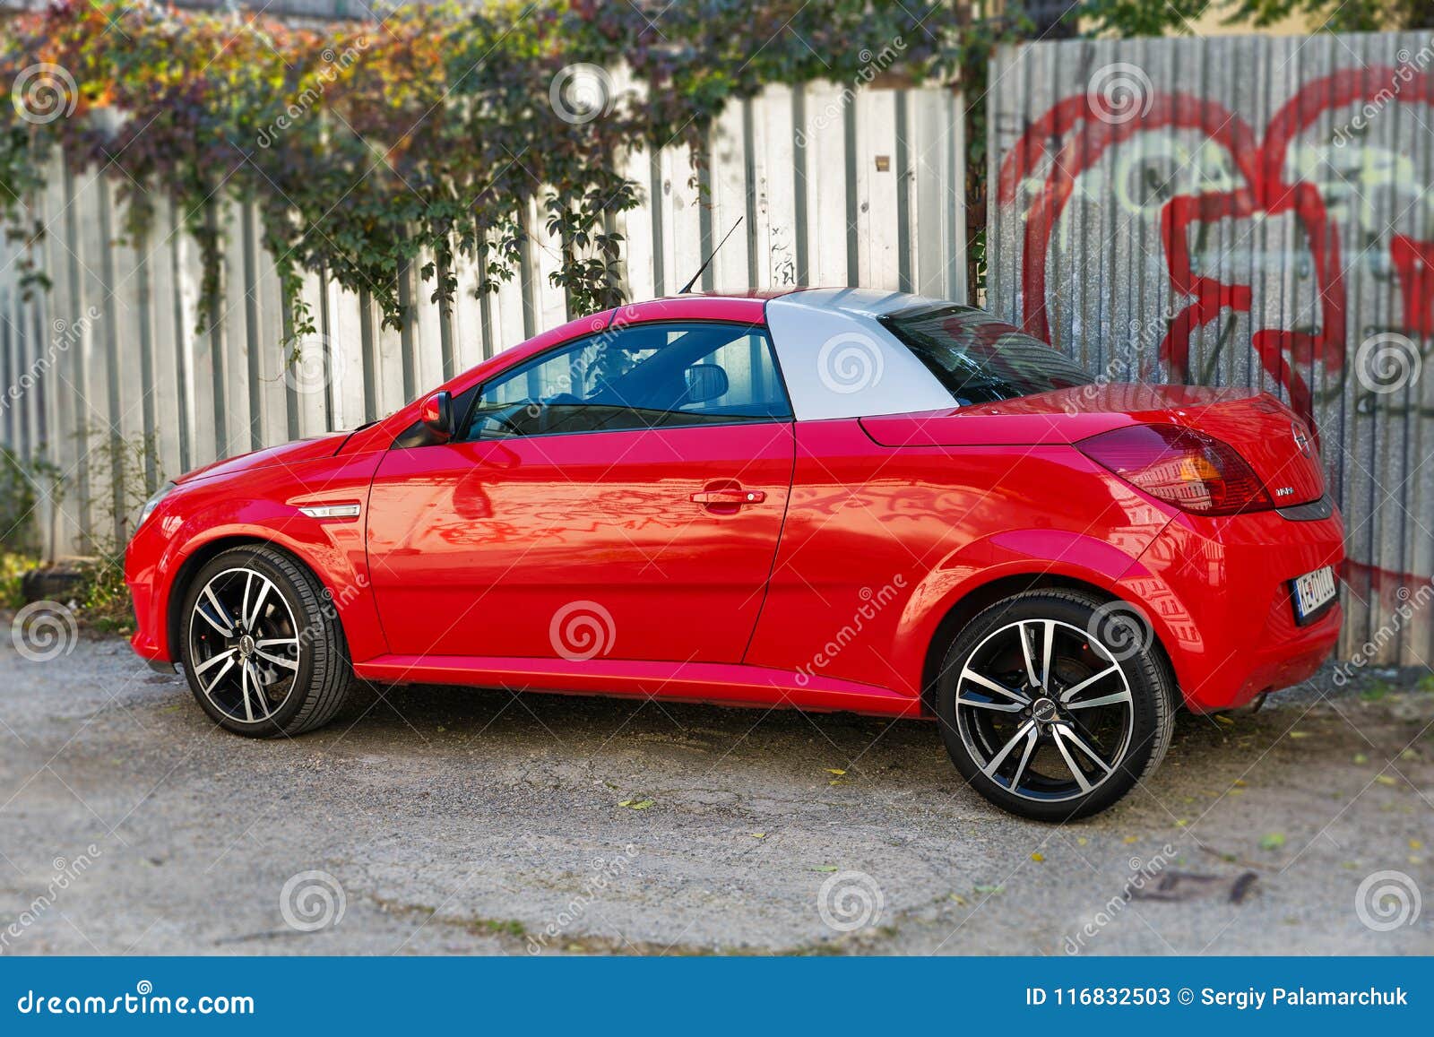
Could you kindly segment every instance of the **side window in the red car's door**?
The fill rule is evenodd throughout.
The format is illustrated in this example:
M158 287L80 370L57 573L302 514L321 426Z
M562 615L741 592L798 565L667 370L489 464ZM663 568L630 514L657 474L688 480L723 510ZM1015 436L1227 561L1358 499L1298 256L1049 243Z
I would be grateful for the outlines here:
M638 324L579 338L488 382L465 439L789 420L761 328Z

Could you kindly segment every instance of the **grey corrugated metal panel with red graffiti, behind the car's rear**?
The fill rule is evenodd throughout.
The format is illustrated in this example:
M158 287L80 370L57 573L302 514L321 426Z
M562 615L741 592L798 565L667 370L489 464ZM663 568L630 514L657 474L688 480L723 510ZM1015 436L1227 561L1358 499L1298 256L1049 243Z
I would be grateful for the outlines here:
M988 102L989 307L1107 377L1308 415L1365 661L1434 658L1431 69L1415 34L1038 43Z

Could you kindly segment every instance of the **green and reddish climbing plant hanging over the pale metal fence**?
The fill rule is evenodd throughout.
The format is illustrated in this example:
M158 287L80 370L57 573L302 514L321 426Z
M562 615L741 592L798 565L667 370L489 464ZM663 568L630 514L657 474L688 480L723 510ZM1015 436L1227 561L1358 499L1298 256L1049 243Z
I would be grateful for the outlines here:
M0 208L33 240L27 201L56 158L103 169L146 232L176 204L199 245L201 323L218 318L227 201L254 202L290 330L313 330L305 273L367 291L387 326L417 264L452 301L459 255L512 277L536 202L561 242L574 311L619 300L625 175L638 148L685 143L769 83L852 82L901 40L902 73L949 67L941 4L866 0L536 0L404 6L380 23L293 27L250 14L63 0L0 32ZM44 281L32 270L30 280Z

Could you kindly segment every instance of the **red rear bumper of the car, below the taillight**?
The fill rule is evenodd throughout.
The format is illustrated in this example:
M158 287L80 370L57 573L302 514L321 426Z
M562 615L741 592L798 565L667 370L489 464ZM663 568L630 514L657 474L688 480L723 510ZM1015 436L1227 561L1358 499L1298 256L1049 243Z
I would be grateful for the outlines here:
M1243 706L1319 668L1344 612L1336 598L1324 615L1298 625L1291 582L1342 559L1344 524L1332 508L1325 518L1302 521L1273 511L1180 515L1119 589L1146 610L1186 706L1203 713Z

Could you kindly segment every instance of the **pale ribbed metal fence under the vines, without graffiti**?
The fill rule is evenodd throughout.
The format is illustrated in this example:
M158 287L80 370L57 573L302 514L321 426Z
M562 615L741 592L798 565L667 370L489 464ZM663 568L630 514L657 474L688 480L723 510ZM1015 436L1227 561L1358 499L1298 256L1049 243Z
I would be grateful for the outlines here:
M945 89L773 87L723 113L701 185L685 149L634 153L644 202L617 221L628 297L677 291L743 217L703 287L868 284L965 298L958 113ZM60 492L39 488L52 557L122 542L125 513L163 475L373 420L569 317L548 280L558 250L535 208L521 270L493 294L478 291L466 265L442 311L416 275L422 264L404 271L412 317L397 331L380 327L364 294L310 277L320 334L287 366L254 209L225 209L222 320L196 336L194 241L163 202L148 238L122 240L116 191L56 164L32 214L46 227L34 258L53 288L30 301L17 242L0 244L0 440L63 476ZM146 440L152 455L126 456Z

